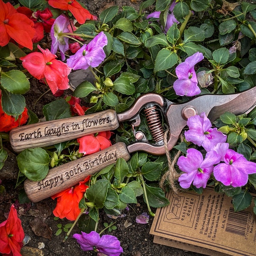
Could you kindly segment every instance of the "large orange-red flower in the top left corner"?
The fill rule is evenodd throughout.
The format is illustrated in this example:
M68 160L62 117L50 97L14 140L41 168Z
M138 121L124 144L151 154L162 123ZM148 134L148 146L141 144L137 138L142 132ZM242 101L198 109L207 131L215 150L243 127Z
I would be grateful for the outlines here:
M0 46L10 39L29 49L33 49L32 38L35 35L34 22L26 15L18 13L10 3L0 0Z

